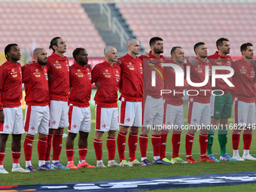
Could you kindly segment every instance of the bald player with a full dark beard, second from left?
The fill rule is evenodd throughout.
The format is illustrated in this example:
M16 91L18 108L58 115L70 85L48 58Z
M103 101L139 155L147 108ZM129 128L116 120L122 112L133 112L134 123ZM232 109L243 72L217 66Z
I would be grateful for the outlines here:
M49 131L49 87L47 77L47 52L43 48L34 50L35 61L22 67L23 83L26 92L26 116L24 141L24 154L26 160L26 170L36 172L32 167L32 144L35 134L38 133L38 171L54 171L45 165L45 155L47 150L47 135Z

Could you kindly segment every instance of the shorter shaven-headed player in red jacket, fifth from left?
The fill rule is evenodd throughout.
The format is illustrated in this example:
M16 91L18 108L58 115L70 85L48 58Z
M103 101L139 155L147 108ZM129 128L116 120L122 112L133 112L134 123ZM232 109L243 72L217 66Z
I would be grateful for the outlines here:
M115 135L118 127L117 90L120 84L120 67L115 65L117 50L107 46L104 49L105 61L97 64L92 72L92 84L99 82L100 87L95 100L95 137L93 141L97 167L106 167L102 161L102 136L108 132L108 166L120 166L115 160Z

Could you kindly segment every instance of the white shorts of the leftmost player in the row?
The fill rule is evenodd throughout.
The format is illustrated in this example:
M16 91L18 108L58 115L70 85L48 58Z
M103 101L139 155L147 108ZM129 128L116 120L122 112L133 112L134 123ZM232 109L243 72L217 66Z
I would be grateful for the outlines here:
M25 133L21 106L17 108L4 108L3 111L5 114L5 123L0 123L0 133L14 135Z

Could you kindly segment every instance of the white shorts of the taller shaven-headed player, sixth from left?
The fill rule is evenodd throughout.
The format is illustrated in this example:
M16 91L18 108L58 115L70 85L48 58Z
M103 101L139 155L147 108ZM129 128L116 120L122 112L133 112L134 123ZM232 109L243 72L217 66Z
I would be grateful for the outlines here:
M122 126L142 126L142 102L119 101L119 124Z

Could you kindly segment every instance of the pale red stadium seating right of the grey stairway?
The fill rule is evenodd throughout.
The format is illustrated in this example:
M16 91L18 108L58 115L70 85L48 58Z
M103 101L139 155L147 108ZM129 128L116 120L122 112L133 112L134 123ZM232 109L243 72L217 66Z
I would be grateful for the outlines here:
M194 44L206 43L209 54L215 52L218 38L229 38L230 55L241 56L239 47L250 41L256 44L256 10L254 3L118 3L134 35L149 50L153 36L164 40L165 53L173 46L184 48L194 56Z

